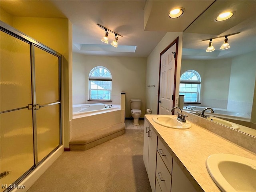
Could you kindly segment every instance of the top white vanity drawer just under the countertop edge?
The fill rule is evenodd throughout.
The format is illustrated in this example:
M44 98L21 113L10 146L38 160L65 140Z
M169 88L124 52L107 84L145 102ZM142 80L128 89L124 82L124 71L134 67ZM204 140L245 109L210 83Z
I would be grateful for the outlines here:
M172 156L159 138L158 138L157 151L160 154L169 172L172 173Z

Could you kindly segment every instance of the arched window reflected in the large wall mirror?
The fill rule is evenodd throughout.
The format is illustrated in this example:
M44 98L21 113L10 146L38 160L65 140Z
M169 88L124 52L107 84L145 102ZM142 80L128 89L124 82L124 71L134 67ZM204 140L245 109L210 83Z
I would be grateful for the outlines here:
M184 102L199 102L200 84L201 77L194 70L188 70L180 76L180 95L184 95Z

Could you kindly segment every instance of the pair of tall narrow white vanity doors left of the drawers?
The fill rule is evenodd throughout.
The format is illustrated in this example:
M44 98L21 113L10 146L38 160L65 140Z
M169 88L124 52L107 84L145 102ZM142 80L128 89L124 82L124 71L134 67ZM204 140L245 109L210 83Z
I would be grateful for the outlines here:
M157 135L150 127L150 124L145 119L144 121L144 146L143 146L143 161L148 173L148 180L152 192L155 191L156 178L156 150L157 150Z

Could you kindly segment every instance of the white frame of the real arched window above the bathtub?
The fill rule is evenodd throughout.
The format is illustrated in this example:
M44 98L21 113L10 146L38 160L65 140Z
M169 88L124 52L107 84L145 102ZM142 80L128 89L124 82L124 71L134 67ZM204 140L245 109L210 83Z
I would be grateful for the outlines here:
M104 76L92 76L93 72L99 68L103 68L104 70L108 71L108 73L110 74L110 76L108 77L104 77ZM110 82L110 89L92 89L91 88L91 82L92 81L108 81ZM103 66L97 66L97 67L94 67L91 71L90 71L90 74L89 74L89 101L111 101L111 94L112 94L112 75L110 73L110 71L106 68L106 67L103 67ZM110 98L109 99L92 99L91 98L91 91L92 90L106 90L106 91L110 91Z

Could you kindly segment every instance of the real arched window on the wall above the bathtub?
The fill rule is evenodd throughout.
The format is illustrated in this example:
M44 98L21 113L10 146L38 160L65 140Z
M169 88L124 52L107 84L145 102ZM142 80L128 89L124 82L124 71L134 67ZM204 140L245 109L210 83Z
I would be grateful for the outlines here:
M111 100L112 76L102 66L95 67L89 74L89 100Z

